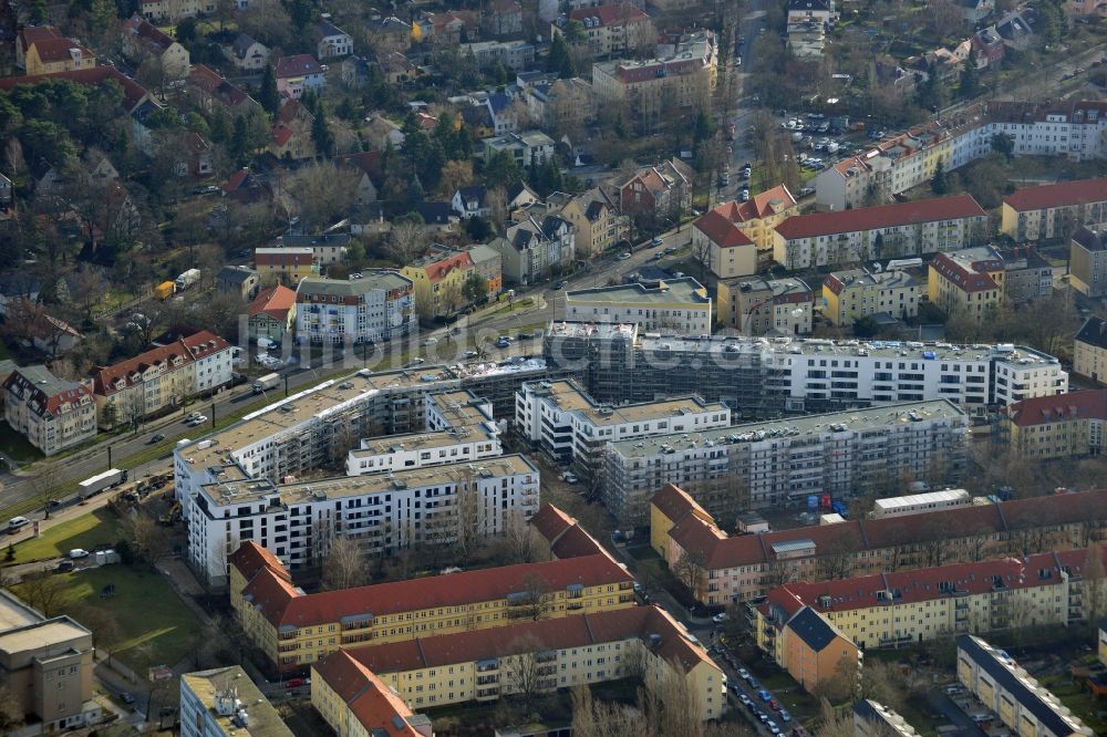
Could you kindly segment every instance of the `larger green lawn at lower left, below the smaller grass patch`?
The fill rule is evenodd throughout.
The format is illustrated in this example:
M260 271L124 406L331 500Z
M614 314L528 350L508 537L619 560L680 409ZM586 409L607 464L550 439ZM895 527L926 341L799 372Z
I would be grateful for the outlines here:
M95 620L114 622L107 630L95 621L85 624L99 635L97 647L110 650L139 674L151 665L173 667L197 645L199 622L157 573L116 564L54 578L65 587L61 610L79 621L82 613L94 611L100 614ZM101 592L108 583L115 585L115 595L104 599Z

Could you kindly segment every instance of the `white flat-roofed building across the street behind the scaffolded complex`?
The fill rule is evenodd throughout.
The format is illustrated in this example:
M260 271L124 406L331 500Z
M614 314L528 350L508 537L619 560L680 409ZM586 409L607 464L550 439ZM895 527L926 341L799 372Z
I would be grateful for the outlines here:
M638 323L650 332L710 335L712 299L693 279L598 287L565 293L565 319L575 322Z

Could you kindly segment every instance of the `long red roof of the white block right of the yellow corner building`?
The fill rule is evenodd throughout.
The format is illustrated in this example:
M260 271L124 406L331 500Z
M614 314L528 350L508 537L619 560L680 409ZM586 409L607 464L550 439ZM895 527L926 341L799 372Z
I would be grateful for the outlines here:
M892 226L986 217L971 195L954 195L912 203L896 203L879 207L861 207L838 212L816 212L788 218L776 227L785 239L830 236L856 230L872 230Z

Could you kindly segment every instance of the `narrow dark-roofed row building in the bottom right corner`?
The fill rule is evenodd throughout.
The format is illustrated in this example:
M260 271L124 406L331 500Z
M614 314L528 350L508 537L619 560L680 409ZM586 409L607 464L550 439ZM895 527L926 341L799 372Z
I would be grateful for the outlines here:
M1018 735L1095 734L1010 655L980 637L958 637L958 681Z

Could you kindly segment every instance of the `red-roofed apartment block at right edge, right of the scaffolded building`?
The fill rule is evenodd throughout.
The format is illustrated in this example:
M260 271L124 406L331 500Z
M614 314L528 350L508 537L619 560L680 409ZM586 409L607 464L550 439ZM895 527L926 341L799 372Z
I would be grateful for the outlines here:
M1023 399L1001 411L1000 437L1020 458L1076 458L1103 451L1107 390Z

